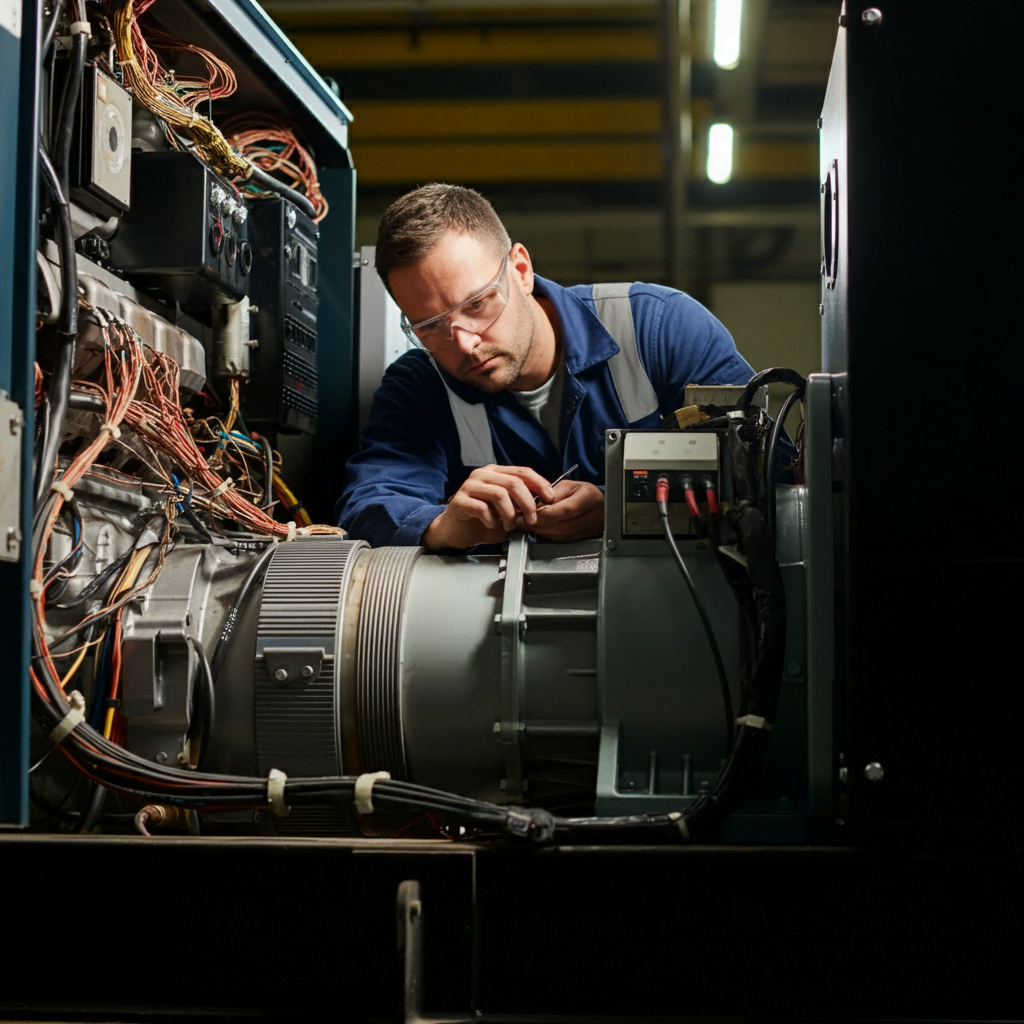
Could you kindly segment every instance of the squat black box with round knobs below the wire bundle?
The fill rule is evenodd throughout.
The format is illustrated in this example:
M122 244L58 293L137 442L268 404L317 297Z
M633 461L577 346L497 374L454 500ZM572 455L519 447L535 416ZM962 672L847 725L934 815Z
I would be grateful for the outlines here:
M136 287L189 311L249 294L249 208L188 153L136 153L131 209L111 240L111 264Z

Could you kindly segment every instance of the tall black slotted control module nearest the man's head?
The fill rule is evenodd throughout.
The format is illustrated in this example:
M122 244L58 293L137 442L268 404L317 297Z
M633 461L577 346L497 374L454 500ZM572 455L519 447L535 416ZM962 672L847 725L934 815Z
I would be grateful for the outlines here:
M246 422L316 432L316 224L284 199L249 213L253 337Z

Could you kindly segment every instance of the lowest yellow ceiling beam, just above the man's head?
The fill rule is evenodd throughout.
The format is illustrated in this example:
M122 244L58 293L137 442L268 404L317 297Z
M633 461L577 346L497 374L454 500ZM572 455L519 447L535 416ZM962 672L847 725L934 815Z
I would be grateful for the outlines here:
M631 181L663 173L647 141L353 143L360 184L450 181Z

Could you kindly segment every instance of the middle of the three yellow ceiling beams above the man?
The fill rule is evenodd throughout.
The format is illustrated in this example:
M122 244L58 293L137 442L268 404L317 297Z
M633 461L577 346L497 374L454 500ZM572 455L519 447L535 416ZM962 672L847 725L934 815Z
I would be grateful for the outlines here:
M352 143L382 139L656 135L656 99L353 102Z

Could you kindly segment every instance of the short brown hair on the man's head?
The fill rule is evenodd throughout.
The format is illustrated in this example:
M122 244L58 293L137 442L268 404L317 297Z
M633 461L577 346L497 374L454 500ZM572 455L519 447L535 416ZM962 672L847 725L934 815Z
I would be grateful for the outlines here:
M499 256L512 248L495 208L478 191L435 181L395 200L381 217L374 266L384 287L390 292L391 272L426 259L449 231L492 245Z

